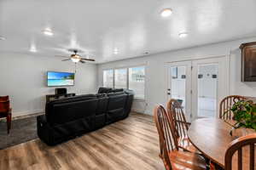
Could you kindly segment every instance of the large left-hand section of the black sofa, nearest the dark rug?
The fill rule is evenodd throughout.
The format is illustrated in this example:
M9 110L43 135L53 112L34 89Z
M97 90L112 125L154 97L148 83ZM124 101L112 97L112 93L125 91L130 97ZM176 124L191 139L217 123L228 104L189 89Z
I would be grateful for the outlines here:
M53 145L95 128L96 95L59 99L46 104L45 116L38 116L38 137Z

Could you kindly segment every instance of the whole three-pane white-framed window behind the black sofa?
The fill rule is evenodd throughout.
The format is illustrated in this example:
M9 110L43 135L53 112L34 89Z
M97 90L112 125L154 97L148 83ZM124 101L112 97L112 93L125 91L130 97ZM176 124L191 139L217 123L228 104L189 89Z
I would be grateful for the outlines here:
M103 87L128 88L134 91L135 98L144 99L145 66L105 70L103 71Z

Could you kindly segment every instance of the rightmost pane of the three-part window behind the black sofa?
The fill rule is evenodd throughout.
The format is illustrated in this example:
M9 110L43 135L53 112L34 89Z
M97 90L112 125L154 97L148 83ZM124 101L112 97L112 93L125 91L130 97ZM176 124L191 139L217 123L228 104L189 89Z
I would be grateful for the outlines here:
M136 98L143 99L145 93L145 67L129 68L129 89L134 91Z

